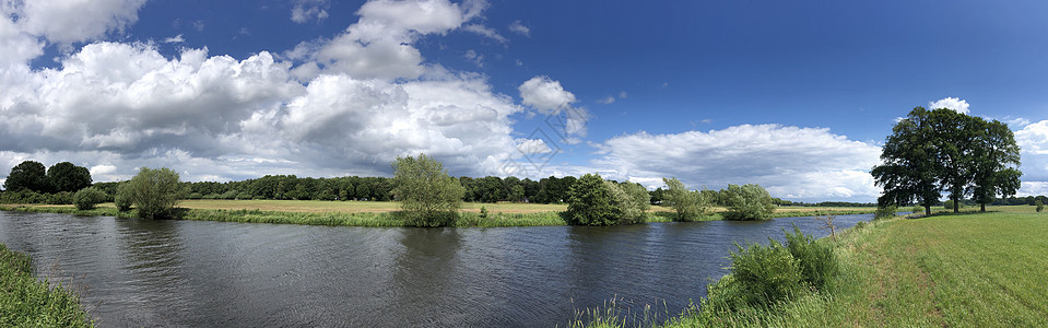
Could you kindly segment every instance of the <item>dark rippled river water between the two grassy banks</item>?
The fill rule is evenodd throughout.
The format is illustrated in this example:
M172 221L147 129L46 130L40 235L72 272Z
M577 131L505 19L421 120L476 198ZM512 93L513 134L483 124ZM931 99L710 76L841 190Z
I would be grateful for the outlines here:
M0 212L0 243L102 327L563 327L611 298L675 316L727 273L733 243L791 223L828 234L812 218L382 229Z

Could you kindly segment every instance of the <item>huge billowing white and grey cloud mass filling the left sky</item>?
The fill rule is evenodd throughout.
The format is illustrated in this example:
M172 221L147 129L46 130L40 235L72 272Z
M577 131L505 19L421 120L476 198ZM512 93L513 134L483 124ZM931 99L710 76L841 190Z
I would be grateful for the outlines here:
M386 175L396 156L422 152L454 174L498 174L523 161L520 147L550 150L511 137L510 116L528 107L483 75L423 65L412 46L460 28L485 5L372 1L344 33L283 56L187 48L169 58L151 44L97 42L39 70L26 63L43 47L36 36L0 30L0 51L23 54L0 69L0 175L24 160L70 161L98 181L141 166L173 167L188 180ZM16 25L10 17L0 23ZM8 47L16 45L28 50ZM582 116L565 117L569 131L585 133Z

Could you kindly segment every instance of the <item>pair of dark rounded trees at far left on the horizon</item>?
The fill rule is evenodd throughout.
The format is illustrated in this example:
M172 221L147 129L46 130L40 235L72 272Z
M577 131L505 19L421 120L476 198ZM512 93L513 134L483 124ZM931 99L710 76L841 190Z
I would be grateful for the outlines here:
M36 161L25 161L11 168L3 189L40 194L74 192L91 186L91 172L73 163L61 162L45 168Z

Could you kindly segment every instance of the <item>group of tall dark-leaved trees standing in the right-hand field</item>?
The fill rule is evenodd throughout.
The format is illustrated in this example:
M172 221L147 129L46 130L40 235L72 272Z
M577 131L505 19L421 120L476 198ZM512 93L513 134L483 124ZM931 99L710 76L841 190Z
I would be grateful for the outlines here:
M917 202L926 214L949 192L954 204L967 195L982 204L1018 189L1018 145L1006 124L955 110L916 107L899 120L871 171L884 188L881 206ZM954 207L958 211L958 207Z

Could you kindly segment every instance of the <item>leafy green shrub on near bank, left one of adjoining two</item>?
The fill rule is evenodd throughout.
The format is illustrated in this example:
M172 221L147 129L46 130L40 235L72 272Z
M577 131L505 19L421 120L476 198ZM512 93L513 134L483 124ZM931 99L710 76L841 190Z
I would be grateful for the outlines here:
M770 244L749 244L731 253L731 276L737 286L730 286L727 302L765 307L804 291L804 273L790 249L769 238Z

